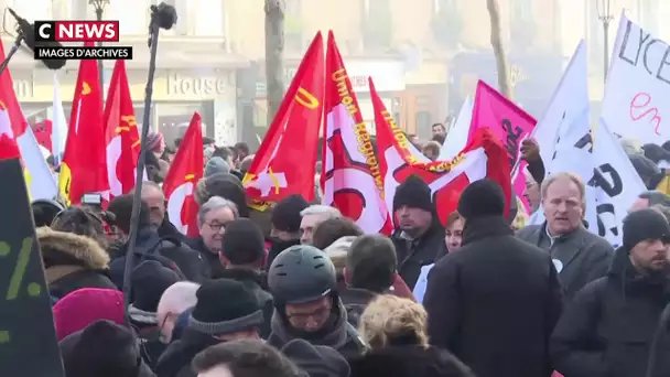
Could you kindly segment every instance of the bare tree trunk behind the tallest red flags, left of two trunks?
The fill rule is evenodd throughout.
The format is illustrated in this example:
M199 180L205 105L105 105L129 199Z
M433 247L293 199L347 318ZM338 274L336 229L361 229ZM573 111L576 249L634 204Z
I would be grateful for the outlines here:
M283 0L266 0L268 126L284 98L284 9Z

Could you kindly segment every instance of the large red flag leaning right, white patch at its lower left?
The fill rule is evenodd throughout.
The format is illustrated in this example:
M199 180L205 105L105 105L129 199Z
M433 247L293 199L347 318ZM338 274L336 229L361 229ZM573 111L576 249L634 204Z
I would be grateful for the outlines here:
M314 175L324 91L323 39L317 33L287 90L244 184L251 206L292 194L314 200Z

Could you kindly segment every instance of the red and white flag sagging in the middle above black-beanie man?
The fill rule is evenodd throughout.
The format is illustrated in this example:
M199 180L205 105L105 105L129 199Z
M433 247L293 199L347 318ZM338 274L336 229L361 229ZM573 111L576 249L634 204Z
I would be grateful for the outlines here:
M488 130L475 133L465 149L452 161L419 162L409 148L410 142L400 130L379 98L372 79L369 79L370 97L377 125L377 150L385 180L385 200L393 211L396 188L410 175L419 175L431 187L433 203L442 224L456 211L461 193L471 183L485 177L496 181L507 197L509 211L511 184L507 152L500 141Z

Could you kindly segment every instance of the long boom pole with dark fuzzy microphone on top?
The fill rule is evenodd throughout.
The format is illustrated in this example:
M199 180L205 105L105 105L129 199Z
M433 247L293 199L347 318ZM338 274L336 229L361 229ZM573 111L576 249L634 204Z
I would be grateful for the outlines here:
M153 94L153 76L155 74L155 56L159 45L159 31L170 30L176 23L176 11L174 7L161 2L158 7L151 6L151 22L149 23L149 47L151 55L149 60L149 78L144 88L144 115L142 118L142 134L140 136L140 157L137 163L134 193L132 196L132 212L130 216L130 235L126 249L126 266L123 272L123 306L126 321L130 324L128 306L130 305L131 280L130 276L134 268L134 244L137 243L140 227L140 208L142 203L142 181L144 176L144 155L148 151L147 137L149 136L151 118L151 95Z

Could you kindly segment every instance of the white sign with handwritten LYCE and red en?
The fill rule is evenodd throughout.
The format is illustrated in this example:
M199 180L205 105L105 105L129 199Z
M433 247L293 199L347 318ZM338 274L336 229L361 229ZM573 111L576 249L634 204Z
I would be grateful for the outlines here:
M670 139L670 46L622 14L603 98L612 131L645 143Z

